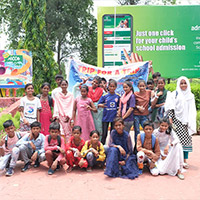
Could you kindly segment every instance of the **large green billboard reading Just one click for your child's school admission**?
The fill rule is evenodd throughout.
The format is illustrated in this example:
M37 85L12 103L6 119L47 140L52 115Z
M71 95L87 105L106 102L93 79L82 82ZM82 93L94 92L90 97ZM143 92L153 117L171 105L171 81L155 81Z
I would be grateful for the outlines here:
M200 6L98 8L98 66L122 65L123 49L166 78L200 77Z

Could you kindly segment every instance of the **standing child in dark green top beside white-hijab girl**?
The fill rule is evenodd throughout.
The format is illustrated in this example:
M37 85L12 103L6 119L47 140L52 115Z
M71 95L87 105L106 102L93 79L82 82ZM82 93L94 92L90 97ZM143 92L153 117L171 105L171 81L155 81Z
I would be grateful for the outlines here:
M155 95L151 102L151 107L153 112L151 114L151 120L154 122L154 127L157 128L159 124L159 119L164 117L164 105L167 97L167 90L165 89L165 79L162 77L158 78L157 81L158 90L155 92Z

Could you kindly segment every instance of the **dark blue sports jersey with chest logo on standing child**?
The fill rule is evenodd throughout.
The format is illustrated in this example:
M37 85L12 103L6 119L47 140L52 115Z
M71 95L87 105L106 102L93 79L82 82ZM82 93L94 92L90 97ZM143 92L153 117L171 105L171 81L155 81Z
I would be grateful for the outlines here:
M119 107L119 94L105 93L99 100L99 104L105 103L105 108L103 109L103 122L113 122L117 115L117 108Z

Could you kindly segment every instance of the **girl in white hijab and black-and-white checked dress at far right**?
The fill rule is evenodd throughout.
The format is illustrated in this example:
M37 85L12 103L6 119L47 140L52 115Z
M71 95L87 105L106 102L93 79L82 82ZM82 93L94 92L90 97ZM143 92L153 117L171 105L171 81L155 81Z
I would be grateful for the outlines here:
M176 134L181 142L184 153L184 168L188 153L192 152L192 134L196 133L196 106L194 94L191 92L189 80L181 76L177 81L176 91L167 94L165 111L170 122L175 126Z

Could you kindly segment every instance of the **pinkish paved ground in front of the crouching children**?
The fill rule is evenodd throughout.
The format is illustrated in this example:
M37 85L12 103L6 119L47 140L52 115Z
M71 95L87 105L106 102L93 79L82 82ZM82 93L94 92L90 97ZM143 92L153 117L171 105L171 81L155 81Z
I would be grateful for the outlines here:
M62 169L54 175L47 175L46 163L40 169L31 168L20 172L17 165L12 177L0 172L1 200L85 200L85 199L160 199L200 200L200 136L193 136L194 151L190 154L190 169L185 180L168 175L152 177L146 170L135 180L108 178L103 170L91 173L74 170L65 173Z

